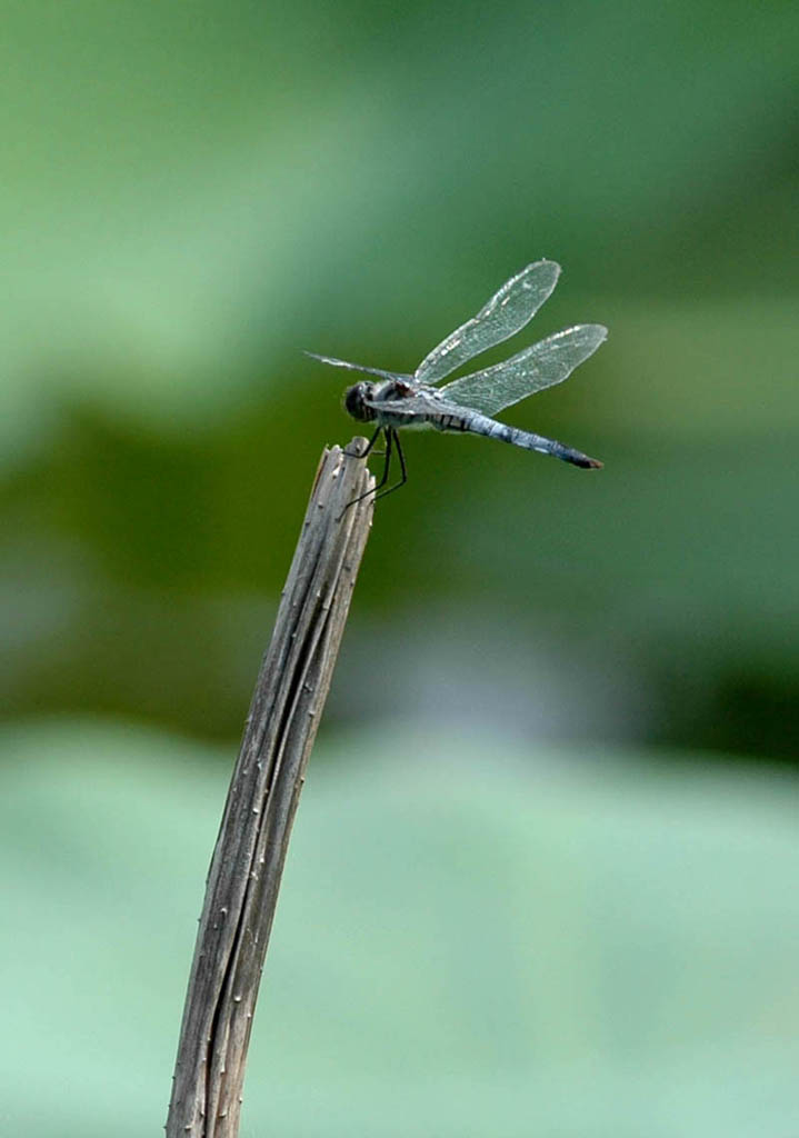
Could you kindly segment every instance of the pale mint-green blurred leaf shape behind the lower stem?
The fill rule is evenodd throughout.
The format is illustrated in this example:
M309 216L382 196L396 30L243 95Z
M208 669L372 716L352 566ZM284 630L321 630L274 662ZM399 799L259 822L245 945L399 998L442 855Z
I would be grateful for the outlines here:
M157 1133L232 754L1 743L5 1131ZM320 745L242 1135L796 1133L798 797L701 756Z

